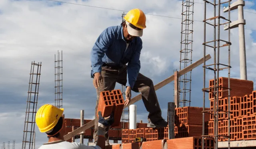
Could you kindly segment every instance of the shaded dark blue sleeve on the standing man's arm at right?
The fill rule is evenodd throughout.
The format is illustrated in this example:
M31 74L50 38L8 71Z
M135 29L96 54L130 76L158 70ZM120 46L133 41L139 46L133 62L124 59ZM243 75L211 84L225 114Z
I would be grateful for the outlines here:
M135 81L137 80L140 72L140 52L142 49L142 41L138 43L138 47L134 51L130 61L127 65L127 82L126 86L133 88Z

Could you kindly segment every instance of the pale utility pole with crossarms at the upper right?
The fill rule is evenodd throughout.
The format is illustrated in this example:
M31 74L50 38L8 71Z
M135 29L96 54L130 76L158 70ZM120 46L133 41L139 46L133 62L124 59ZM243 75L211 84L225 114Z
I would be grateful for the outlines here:
M230 11L238 9L238 20L230 23L230 29L238 27L239 38L239 55L240 55L240 79L247 80L247 67L246 67L246 50L245 50L245 37L244 37L244 0L237 0L230 5ZM228 12L228 7L223 12ZM224 30L228 29L228 25L224 26Z

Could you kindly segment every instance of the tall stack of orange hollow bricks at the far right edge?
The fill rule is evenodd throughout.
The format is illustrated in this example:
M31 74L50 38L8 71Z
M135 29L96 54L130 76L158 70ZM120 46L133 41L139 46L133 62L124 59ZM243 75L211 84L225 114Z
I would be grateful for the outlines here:
M218 135L228 135L228 78L219 78L219 112ZM214 86L210 80L209 87ZM256 139L256 91L253 91L253 81L230 78L230 141ZM213 90L213 89L212 89ZM211 90L210 90L211 91ZM214 96L209 93L210 109L214 109ZM214 117L211 114L208 122L208 134L214 135ZM254 129L255 127L255 129ZM207 135L207 134L206 134ZM218 141L228 141L228 138L219 138Z

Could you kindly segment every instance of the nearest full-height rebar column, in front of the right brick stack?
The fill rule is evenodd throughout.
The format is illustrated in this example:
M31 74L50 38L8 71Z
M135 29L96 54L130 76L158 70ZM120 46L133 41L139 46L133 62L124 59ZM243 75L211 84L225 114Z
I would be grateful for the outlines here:
M224 24L227 24L230 26L230 12L229 12L229 16L228 16L228 19L222 17L220 15L220 5L221 5L221 1L218 0L218 3L216 4L216 0L214 0L213 3L210 3L212 4L212 6L214 7L214 16L211 17L211 18L208 18L206 19L206 3L210 3L208 2L207 0L204 0L204 56L205 56L205 52L206 52L206 46L208 47L211 47L214 49L214 63L212 65L205 65L205 61L204 61L204 88L203 88L203 92L211 92L212 95L213 95L213 106L211 108L213 108L212 110L210 110L210 113L213 114L213 122L214 122L214 125L213 125L213 134L208 134L208 135L205 135L205 132L204 132L204 116L205 116L205 113L204 112L207 112L205 111L205 93L203 93L203 96L204 96L204 99L203 99L203 102L204 102L204 108L203 108L203 139L204 137L211 137L213 135L213 138L214 138L214 149L218 149L218 139L222 138L222 137L227 137L228 138L228 143L230 143L230 30L228 31L228 41L224 41L224 40L221 40L220 37L220 27L221 25L224 25ZM230 0L224 2L224 3L228 3L228 7L230 7ZM218 6L216 8L216 6ZM216 14L216 9L218 9L218 14ZM230 8L229 8L230 10ZM216 19L218 19L217 23L216 23ZM223 19L223 20L227 20L228 22L226 23L222 23L220 22L220 19ZM214 20L214 23L212 24L209 23L209 22L206 22L207 20ZM206 24L209 24L211 26L214 27L214 33L213 33L213 40L209 41L209 42L206 42ZM218 27L216 29L216 27ZM209 30L209 29L207 29ZM217 36L216 36L217 34ZM220 45L220 42L225 42L226 44L224 45ZM217 42L217 44L216 44ZM209 43L213 43L213 46L212 45L207 45ZM217 46L216 46L217 45ZM220 63L220 47L224 47L224 46L228 46L228 65L224 65L224 64L221 64ZM225 66L224 68L221 68L220 66L223 65ZM209 66L214 66L214 68L210 68ZM206 79L206 72L205 72L205 69L209 69L211 71L214 72L214 79L213 79L213 84L210 86L211 88L206 88L205 87L205 79ZM219 98L220 98L220 92L224 92L226 90L223 90L223 87L220 87L220 76L219 76L219 71L220 70L223 70L223 69L228 69L228 111L222 111L219 109ZM208 91L209 90L209 91ZM210 97L212 98L212 97ZM222 97L223 98L223 97ZM220 112L221 111L221 112ZM220 133L219 135L219 115L220 114L228 114L228 136L226 135L223 135L222 132ZM221 120L220 120L221 121ZM204 148L204 143L202 143L203 145L203 148ZM230 149L230 144L228 145L229 149Z

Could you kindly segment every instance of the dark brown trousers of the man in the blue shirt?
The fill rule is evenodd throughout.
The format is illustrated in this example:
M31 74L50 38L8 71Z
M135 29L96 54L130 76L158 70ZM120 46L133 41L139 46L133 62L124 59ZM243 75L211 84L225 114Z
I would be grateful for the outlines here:
M99 96L100 92L102 91L111 91L114 90L116 82L126 85L127 81L127 69L126 65L124 65L122 68L113 68L110 66L104 66L102 67L102 73L103 77L103 83L100 83L100 86L96 89L97 92L97 101L96 101L96 107L95 107L95 125L94 125L94 141L97 141L98 139L98 117L97 117L97 110L98 110L98 102L99 102ZM156 122L160 119L162 119L162 112L158 103L158 99L156 97L156 92L154 90L154 84L152 80L141 73L138 74L137 80L134 84L134 87L132 89L134 92L140 92L142 94L142 101L144 102L144 105L146 107L146 110L149 112L148 114L148 121L149 122ZM125 100L125 98L124 98ZM108 141L108 129L106 129L106 141Z

